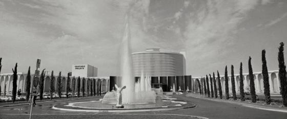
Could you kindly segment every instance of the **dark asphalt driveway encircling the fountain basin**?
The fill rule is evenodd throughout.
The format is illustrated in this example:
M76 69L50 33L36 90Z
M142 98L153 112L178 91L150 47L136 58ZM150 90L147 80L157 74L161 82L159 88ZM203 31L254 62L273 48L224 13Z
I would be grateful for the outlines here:
M185 97L183 95L173 96L178 100L189 101L196 104L195 108L179 109L171 111L153 112L128 112L128 113L90 113L90 112L68 112L53 110L51 107L57 104L68 104L71 102L82 102L98 100L99 98L72 100L63 102L50 102L38 104L33 107L32 118L193 118L186 115L197 115L207 118L287 118L287 113L259 110L249 107L215 102L210 100ZM0 118L29 118L30 106L13 106L0 108Z

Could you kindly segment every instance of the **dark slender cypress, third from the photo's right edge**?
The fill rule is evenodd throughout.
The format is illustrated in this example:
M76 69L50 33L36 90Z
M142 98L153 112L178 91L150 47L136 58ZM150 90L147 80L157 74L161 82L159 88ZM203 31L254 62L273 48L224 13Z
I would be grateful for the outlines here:
M252 70L252 65L251 65L251 57L249 57L249 60L248 60L248 68L249 68L249 78L250 78L251 99L252 99L252 103L256 103L256 93L255 93L255 86L254 86L254 75L253 75L253 70Z

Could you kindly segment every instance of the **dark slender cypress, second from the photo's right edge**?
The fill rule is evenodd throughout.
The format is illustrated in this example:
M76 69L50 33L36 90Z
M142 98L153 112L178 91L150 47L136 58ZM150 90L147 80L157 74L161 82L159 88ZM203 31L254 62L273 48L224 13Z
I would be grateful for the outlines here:
M271 97L270 97L270 85L269 85L267 62L265 58L265 50L262 50L262 76L264 83L265 102L266 104L269 105L271 103Z

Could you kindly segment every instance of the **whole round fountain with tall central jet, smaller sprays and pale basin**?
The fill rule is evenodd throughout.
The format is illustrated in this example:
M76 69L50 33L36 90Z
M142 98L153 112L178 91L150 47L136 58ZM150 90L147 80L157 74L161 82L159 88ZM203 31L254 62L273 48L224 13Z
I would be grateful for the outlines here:
M127 17L126 21L125 34L121 42L121 82L116 82L117 84L113 86L113 90L107 92L104 98L98 101L56 105L52 107L53 109L86 112L100 112L103 110L108 110L109 112L133 112L145 111L142 110L145 108L147 111L160 111L178 109L178 106L182 105L191 106L186 102L176 101L177 99L170 96L156 96L155 91L151 87L151 77L149 74L144 74L144 70L142 70L140 79L135 82L132 70L130 31ZM118 87L117 85L119 84L122 87ZM162 88L159 88L159 90L162 90ZM175 84L173 84L172 91L175 92ZM114 106L117 108L114 109ZM124 106L125 108L123 108ZM71 109L67 109L67 107ZM186 107L182 106L182 108Z

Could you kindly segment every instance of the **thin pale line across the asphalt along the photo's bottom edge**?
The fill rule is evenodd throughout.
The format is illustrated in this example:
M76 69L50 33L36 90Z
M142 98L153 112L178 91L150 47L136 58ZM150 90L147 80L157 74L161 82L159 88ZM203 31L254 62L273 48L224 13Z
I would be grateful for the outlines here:
M0 114L0 115L29 115L29 114ZM32 115L177 115L177 116L189 116L189 117L197 117L201 119L209 119L207 117L203 116L195 116L195 115L185 115L185 114L95 114L95 113L63 113L63 114L56 114L56 113L37 113L37 114L32 114Z

